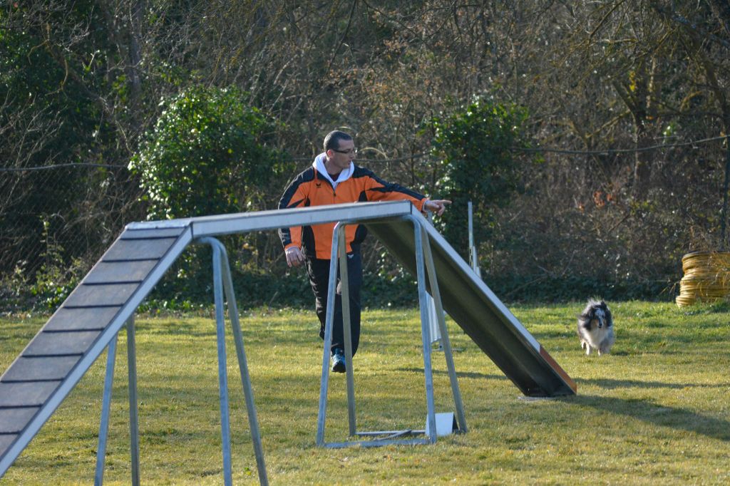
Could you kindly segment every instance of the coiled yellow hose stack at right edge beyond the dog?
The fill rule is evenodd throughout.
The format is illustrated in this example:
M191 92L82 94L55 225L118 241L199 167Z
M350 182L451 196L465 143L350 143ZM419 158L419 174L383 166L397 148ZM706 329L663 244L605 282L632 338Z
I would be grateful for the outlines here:
M730 252L691 252L682 257L677 306L730 300Z

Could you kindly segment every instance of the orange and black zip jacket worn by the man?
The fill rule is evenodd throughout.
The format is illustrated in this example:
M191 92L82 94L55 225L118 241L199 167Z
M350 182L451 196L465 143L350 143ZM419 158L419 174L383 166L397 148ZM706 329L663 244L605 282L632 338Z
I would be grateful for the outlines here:
M314 166L310 166L294 179L279 201L279 209L293 207L323 206L325 204L344 204L365 201L411 201L416 209L423 210L426 196L410 189L391 184L377 177L372 171L354 166L352 176L332 188L331 182L320 174ZM296 226L281 228L279 236L287 250L290 247L301 247L308 258L329 260L332 248L332 233L335 223L323 225ZM367 230L362 225L348 225L345 228L347 252L353 251L353 245L359 246L365 239Z

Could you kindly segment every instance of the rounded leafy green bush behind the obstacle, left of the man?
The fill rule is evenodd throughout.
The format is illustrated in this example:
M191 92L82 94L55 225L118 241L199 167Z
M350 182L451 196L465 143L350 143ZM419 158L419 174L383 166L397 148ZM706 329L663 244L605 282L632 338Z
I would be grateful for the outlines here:
M148 219L255 209L285 159L274 148L275 123L235 89L183 91L164 111L129 169L139 174Z

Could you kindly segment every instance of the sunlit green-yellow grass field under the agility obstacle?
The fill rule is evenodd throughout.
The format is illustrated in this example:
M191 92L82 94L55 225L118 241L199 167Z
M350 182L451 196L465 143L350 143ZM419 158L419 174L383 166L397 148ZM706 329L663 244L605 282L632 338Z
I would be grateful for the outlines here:
M612 355L586 357L575 336L582 304L512 306L575 379L578 395L527 401L453 322L447 323L469 432L428 446L315 447L322 351L313 312L242 315L269 480L301 484L728 484L728 306L612 303ZM0 319L0 371L44 318ZM215 322L138 317L143 484L222 483ZM355 358L359 430L423 428L418 315L364 312ZM228 342L234 482L258 474ZM105 355L0 480L93 482ZM434 352L437 412L453 412L443 355ZM105 479L128 484L126 339L120 335ZM347 439L344 375L331 377L326 440Z

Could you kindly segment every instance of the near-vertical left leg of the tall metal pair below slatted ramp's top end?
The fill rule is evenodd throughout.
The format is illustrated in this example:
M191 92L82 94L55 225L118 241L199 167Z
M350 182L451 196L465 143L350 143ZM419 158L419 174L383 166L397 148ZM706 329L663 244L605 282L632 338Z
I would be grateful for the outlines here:
M218 338L218 396L220 398L220 439L223 449L223 482L233 485L231 474L231 424L228 417L228 371L226 368L226 328L223 320L223 279L220 270L220 249L213 250L213 293L215 299L215 333Z

